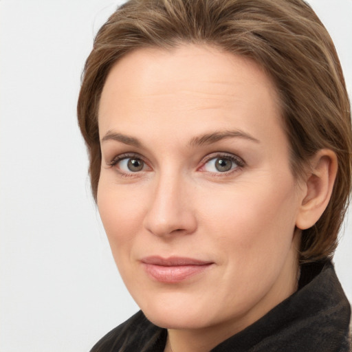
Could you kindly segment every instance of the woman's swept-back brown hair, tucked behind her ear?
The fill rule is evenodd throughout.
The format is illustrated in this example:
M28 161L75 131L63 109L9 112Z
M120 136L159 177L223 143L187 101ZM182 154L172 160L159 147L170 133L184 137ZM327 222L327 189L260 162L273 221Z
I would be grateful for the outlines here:
M351 111L331 38L303 0L130 0L100 28L87 58L78 122L89 151L94 199L100 176L98 106L111 67L142 47L206 43L252 58L274 80L299 177L322 148L338 157L327 209L303 231L301 261L333 255L351 192Z

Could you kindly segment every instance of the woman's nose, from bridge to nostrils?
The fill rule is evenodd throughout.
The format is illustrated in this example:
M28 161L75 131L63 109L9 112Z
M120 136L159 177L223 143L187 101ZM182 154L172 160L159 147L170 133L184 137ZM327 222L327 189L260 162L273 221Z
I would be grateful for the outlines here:
M156 236L195 232L197 219L192 209L189 186L181 177L160 176L150 197L144 228Z

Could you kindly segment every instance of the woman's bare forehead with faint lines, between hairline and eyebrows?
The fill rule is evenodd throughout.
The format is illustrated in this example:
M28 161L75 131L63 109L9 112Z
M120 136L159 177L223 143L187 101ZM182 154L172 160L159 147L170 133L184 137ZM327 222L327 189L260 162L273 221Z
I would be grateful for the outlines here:
M276 89L263 69L206 45L127 54L107 77L98 115L100 137L116 126L141 123L170 131L190 120L224 129L233 128L233 122L243 129L246 119L260 128L266 115L281 123Z

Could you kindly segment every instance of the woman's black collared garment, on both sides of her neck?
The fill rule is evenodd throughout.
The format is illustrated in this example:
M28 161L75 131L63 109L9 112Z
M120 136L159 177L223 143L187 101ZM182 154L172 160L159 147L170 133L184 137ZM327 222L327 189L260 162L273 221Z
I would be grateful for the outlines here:
M212 352L349 352L351 307L333 265L303 265L298 291ZM166 329L142 311L100 340L91 352L163 352Z

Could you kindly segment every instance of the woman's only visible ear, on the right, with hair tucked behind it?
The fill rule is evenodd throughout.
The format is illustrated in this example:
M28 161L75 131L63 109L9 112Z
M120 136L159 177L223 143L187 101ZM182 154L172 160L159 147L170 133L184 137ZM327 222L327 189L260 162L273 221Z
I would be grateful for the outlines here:
M337 171L338 158L330 149L321 149L312 157L303 181L303 200L296 217L296 227L300 230L311 228L327 208Z

